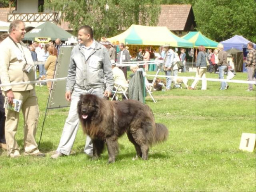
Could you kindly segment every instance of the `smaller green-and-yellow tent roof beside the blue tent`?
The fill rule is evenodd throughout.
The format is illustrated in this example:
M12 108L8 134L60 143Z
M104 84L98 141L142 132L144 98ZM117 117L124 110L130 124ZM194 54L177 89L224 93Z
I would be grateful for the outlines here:
M204 45L206 48L217 48L218 42L213 41L206 36L204 36L200 31L191 31L187 35L182 37L183 39L193 43L193 47L199 47Z

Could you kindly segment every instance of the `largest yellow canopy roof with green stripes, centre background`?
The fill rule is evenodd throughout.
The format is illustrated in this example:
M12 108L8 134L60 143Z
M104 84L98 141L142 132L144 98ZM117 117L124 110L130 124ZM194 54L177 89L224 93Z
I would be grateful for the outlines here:
M111 43L119 41L126 45L170 45L172 47L193 47L193 43L175 36L167 27L131 25L123 33L107 38Z

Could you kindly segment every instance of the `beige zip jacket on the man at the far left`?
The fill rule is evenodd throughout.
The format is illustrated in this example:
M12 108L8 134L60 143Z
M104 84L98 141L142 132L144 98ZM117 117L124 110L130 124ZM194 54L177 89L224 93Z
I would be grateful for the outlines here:
M25 73L22 71L22 68L26 61L28 64L34 66L31 53L26 48L24 43L20 43L22 49L20 50L15 43L8 37L0 43L0 77L2 84L8 83L19 83L24 81L35 81L35 67L31 70L30 73ZM24 59L23 53L26 57ZM14 85L2 87L4 91L12 89L13 91L25 91L32 90L35 87L35 84L29 85Z

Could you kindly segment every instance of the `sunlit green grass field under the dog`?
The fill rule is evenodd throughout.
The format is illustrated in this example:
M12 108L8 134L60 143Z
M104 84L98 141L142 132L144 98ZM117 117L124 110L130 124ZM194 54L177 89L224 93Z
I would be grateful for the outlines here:
M247 74L238 73L234 79L246 80ZM240 151L239 143L242 133L256 133L256 92L246 92L247 84L229 83L228 90L219 90L220 83L207 83L208 90L200 90L199 83L198 90L154 92L156 104L146 97L156 122L164 123L170 133L166 142L150 149L148 161L132 160L135 149L126 135L119 139L114 164L107 164L107 151L91 161L83 154L81 129L70 156L50 159L69 109L50 110L40 144L47 157L12 159L0 149L0 191L255 191L256 153ZM48 91L46 86L36 91L39 141ZM21 150L22 121L16 136Z

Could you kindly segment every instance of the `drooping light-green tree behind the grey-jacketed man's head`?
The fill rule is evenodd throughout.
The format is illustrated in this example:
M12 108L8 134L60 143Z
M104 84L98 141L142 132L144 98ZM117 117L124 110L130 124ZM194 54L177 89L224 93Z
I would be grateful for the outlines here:
M158 0L46 0L45 7L62 12L75 33L81 25L92 26L96 39L114 36L131 24L154 26L160 12Z

